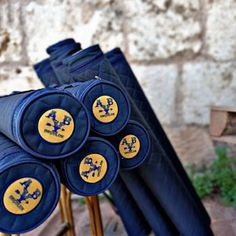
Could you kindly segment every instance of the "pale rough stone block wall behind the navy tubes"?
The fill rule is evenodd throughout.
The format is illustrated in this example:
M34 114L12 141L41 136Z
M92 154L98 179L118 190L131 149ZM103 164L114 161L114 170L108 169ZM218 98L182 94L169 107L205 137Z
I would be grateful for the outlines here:
M0 94L41 87L32 65L73 37L121 47L164 125L205 126L235 105L235 19L235 0L0 0Z

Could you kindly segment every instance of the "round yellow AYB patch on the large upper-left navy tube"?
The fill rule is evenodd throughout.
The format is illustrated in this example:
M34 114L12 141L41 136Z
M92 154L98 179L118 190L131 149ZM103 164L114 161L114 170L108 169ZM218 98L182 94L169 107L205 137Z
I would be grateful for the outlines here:
M50 143L61 143L72 135L74 120L63 109L51 109L40 117L38 131L44 140Z

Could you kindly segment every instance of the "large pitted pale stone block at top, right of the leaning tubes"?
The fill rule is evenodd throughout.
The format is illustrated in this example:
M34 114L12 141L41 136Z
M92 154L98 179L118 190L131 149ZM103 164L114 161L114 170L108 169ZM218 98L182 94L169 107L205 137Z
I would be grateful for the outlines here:
M133 60L192 55L201 48L199 1L126 1Z

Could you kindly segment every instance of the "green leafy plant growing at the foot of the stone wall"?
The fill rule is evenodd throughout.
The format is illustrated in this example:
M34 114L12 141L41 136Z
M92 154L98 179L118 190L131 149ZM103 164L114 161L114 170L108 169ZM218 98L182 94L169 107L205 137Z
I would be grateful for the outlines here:
M225 148L217 148L217 159L208 167L188 168L200 198L219 194L228 206L236 207L236 158L229 158Z

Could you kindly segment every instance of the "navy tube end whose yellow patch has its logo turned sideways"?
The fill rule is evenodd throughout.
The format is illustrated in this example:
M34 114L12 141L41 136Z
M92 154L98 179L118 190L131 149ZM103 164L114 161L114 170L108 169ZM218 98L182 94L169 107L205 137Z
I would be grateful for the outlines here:
M102 138L90 137L80 151L60 161L62 181L81 196L104 192L116 179L120 159L115 148Z

